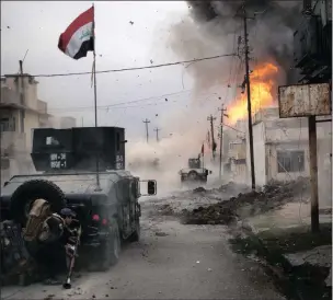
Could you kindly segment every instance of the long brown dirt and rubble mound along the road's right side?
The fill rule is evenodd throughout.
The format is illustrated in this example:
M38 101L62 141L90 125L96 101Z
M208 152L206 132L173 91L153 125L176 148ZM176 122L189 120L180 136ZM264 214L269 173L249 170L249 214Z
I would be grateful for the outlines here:
M229 224L239 218L255 216L284 206L300 191L305 193L302 188L306 182L307 180L300 178L286 184L271 183L264 186L263 192L240 193L237 197L207 207L183 209L181 219L186 224ZM228 187L236 189L237 185L229 183L221 186L220 191L228 192Z

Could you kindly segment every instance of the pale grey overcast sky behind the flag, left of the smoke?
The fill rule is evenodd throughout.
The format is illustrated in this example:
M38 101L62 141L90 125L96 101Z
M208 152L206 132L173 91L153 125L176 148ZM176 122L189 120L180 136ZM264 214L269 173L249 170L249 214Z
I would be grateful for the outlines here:
M90 5L88 1L2 1L1 74L18 72L19 60L23 59L27 49L24 72L48 74L90 71L91 53L87 58L73 60L57 47L59 35ZM180 22L186 14L188 8L183 1L95 2L96 69L149 66L150 60L153 65L180 60L169 48L168 34L172 24ZM190 97L186 91L192 89L192 79L183 69L182 66L175 66L97 74L99 106L154 97L108 111L100 109L99 125L122 126L127 129L127 135L141 137L145 132L142 119L146 117L151 120L152 131L154 126L160 126L163 116L174 111L186 113ZM93 125L90 76L37 80L38 96L48 103L50 113L74 116L78 125L83 117L85 126ZM177 94L166 96L165 102L163 95L171 93Z

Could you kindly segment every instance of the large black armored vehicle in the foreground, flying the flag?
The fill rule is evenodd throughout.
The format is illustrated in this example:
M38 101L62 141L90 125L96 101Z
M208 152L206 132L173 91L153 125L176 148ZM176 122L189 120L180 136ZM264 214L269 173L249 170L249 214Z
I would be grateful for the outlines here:
M156 181L140 180L125 166L125 130L118 127L34 129L32 160L39 174L16 175L1 188L1 221L23 228L34 200L53 211L69 207L81 223L81 245L94 266L107 269L119 257L122 241L140 236L140 196L156 195Z

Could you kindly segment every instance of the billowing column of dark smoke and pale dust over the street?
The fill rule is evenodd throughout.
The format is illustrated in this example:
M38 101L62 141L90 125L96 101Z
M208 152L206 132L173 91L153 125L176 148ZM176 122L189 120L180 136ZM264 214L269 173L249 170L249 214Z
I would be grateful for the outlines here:
M239 36L243 35L241 18L236 18L239 1L186 1L188 12L169 31L165 49L171 49L181 60L191 60L222 54L238 53ZM288 67L292 58L292 32L297 24L295 15L300 10L299 1L288 3L273 1L246 1L249 13L261 12L255 21L249 21L249 39L252 57L262 60L274 60L283 70L282 81L288 77ZM237 86L243 80L243 70L237 57L221 57L214 60L193 62L186 66L185 72L193 81L191 106L186 114L172 112L159 124L163 132L172 132L159 143L128 142L127 163L129 170L142 178L156 178L165 191L180 188L177 172L186 168L188 158L199 154L208 130L207 116L217 113L215 124L216 142L218 136L218 107L221 99L232 101L240 92ZM279 82L280 83L280 82ZM227 84L233 89L226 96ZM200 95L214 90L218 101ZM228 103L226 103L228 104ZM210 150L211 151L211 150ZM218 181L218 160L211 162L211 153L205 155L205 166L213 171L208 176L208 185L221 184ZM159 159L159 165L152 168L149 161ZM131 169L130 164L138 160L146 161L141 168Z

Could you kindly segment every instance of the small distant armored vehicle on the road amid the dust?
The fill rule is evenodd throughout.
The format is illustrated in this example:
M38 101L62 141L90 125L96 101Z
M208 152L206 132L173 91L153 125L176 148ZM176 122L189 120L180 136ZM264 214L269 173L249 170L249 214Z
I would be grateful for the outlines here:
M208 174L211 171L205 169L202 165L200 158L188 159L188 168L182 169L179 174L181 175L181 182L203 182L207 183Z

